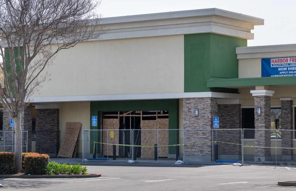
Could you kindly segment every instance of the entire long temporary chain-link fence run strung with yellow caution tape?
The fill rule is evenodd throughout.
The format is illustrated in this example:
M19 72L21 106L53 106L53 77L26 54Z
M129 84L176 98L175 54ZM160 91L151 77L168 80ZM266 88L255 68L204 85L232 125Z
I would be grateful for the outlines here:
M282 129L83 130L83 160L296 166L294 134Z

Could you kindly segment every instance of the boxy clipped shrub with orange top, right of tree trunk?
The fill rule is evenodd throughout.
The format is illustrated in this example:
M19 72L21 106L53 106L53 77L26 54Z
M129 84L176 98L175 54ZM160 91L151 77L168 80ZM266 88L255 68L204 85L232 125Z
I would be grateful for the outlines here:
M49 156L47 154L23 153L23 170L26 174L45 174Z

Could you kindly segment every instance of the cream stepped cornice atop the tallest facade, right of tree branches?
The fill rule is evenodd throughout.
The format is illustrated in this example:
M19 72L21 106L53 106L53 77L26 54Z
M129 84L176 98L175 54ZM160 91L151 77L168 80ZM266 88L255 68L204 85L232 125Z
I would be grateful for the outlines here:
M102 18L106 34L101 40L215 33L253 39L251 30L264 19L211 8Z

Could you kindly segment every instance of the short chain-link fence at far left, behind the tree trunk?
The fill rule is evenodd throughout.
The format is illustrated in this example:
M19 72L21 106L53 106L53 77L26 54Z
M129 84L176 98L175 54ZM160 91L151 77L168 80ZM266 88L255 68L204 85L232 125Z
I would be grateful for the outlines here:
M14 131L0 131L0 151L14 152L14 139ZM22 151L28 152L28 131L22 131Z

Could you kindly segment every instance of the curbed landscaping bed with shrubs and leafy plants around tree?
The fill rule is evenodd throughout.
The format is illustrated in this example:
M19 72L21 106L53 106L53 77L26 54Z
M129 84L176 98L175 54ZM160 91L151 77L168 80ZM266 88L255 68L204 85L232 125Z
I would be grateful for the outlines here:
M0 152L0 178L81 178L100 177L101 174L89 174L87 167L75 164L60 164L49 161L47 154L23 153L23 172L14 173L14 153Z

